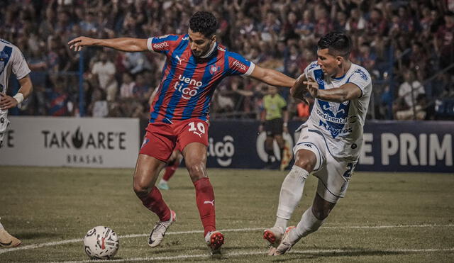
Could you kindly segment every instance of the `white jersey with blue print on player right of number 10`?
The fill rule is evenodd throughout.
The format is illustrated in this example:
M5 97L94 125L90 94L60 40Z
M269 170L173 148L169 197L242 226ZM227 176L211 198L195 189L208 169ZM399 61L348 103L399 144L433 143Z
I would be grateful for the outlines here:
M320 66L312 62L304 69L304 74L308 79L315 79L319 89L338 88L346 83L353 83L361 89L360 98L343 103L315 99L311 116L305 123L309 130L321 133L326 138L327 146L334 156L358 158L362 145L362 128L372 93L369 72L352 63L343 77L335 79L324 76Z

